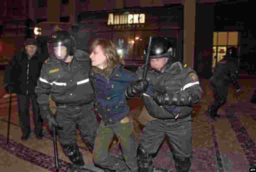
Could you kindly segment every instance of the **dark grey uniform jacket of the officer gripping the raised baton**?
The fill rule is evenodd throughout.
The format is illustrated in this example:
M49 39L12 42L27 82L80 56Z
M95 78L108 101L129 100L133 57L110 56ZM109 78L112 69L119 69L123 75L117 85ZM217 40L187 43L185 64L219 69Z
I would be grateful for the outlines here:
M137 70L139 78L142 78L144 67ZM184 67L180 62L173 64L167 62L161 71L149 68L147 72L149 87L144 93L143 99L149 115L158 119L174 119L179 114L179 118L187 117L193 111L191 106L159 106L152 96L152 88L162 93L171 94L173 92L186 92L195 94L198 100L201 97L202 90L199 85L198 77L191 68ZM179 109L179 110L177 110Z

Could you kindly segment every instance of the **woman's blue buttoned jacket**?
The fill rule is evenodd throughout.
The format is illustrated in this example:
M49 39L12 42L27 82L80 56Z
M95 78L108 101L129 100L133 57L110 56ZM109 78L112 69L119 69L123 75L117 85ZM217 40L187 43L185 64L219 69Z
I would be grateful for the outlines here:
M94 107L105 125L119 122L130 114L126 89L137 80L136 73L124 69L121 64L116 65L106 77L101 73L90 73L95 93Z

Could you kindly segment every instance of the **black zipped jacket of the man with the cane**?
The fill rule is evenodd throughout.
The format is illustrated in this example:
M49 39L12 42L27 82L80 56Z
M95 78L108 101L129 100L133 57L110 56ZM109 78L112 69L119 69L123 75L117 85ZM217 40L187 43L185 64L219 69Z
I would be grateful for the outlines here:
M38 51L30 59L25 50L17 52L7 67L4 82L14 83L15 93L35 94L35 87L45 58Z

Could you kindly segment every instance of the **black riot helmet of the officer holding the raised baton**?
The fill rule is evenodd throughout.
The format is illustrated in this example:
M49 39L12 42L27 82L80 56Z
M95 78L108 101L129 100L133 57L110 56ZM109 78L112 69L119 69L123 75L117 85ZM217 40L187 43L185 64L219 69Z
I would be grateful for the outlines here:
M147 55L148 44L145 47L144 55ZM173 45L166 37L153 37L151 40L150 59L174 57Z

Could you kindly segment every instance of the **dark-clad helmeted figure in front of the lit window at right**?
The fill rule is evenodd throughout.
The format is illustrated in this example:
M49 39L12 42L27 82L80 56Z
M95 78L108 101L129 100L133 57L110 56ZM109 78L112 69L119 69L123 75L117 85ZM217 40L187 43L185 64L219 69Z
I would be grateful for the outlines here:
M240 85L238 79L238 65L237 65L237 50L236 47L228 47L226 56L220 60L215 68L212 76L212 92L215 101L207 110L208 114L216 120L220 117L217 115L218 109L227 101L228 85L232 83L236 88L236 92L240 92Z

